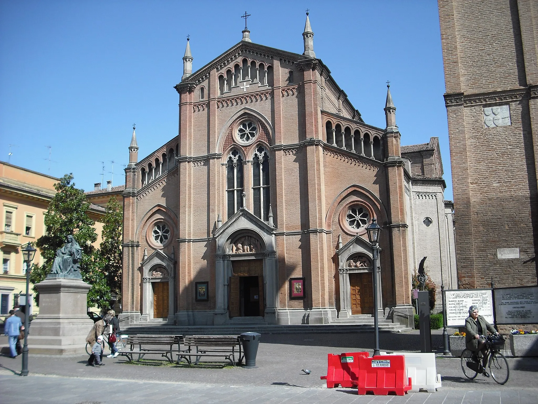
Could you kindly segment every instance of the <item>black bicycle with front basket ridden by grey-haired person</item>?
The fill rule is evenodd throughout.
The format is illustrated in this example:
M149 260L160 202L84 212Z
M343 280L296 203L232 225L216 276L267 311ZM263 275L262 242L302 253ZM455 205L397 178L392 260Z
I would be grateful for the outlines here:
M500 353L500 350L504 347L505 338L502 336L480 336L486 341L486 363L489 368L491 377L495 382L500 385L504 385L508 381L510 375L510 368L508 367L508 361L505 356ZM464 349L461 356L461 365L463 374L468 379L475 379L478 373L484 372L484 367L481 364L481 353L471 351L470 349Z

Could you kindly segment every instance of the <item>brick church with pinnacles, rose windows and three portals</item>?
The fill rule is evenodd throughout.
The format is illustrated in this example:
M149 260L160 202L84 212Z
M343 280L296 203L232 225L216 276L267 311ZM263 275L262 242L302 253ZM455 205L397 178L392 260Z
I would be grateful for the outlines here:
M193 73L187 39L178 134L139 159L133 128L129 146L130 324L352 322L372 316L377 276L380 317L413 328L423 256L437 287L457 288L438 139L400 146L390 88L386 127L365 123L316 58L308 13L303 42L303 54L254 44L245 24Z

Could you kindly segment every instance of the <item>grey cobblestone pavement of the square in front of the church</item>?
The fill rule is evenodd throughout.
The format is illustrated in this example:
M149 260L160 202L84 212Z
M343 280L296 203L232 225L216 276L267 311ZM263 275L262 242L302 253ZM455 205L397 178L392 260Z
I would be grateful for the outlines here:
M0 337L0 343L3 342ZM434 346L438 343L434 336ZM382 334L381 349L416 351L413 334ZM17 374L20 356L0 356L0 402L289 402L289 403L536 403L538 358L508 359L510 379L499 386L491 378L465 379L457 358L437 357L443 387L436 393L405 396L358 396L356 389L324 388L327 353L356 352L371 347L370 335L265 335L256 369L242 367L178 367L159 362L128 364L124 357L103 358L103 367L86 366L87 356L30 355L28 377ZM370 350L371 352L371 350ZM108 352L107 352L108 353ZM308 368L312 373L304 374Z

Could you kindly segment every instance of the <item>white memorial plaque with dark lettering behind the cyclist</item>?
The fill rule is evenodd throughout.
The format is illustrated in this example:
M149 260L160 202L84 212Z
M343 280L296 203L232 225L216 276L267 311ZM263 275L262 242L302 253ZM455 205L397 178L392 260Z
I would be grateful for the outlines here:
M447 325L459 327L465 325L465 319L469 317L469 307L476 304L479 315L493 324L493 296L491 289L458 289L445 290L447 302Z

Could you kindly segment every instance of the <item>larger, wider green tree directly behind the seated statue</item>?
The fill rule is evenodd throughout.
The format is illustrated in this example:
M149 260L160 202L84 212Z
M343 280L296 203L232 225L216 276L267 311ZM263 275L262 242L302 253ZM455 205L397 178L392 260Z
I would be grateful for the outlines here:
M100 270L100 257L93 243L97 240L94 220L88 216L90 204L86 200L84 191L75 188L72 183L73 175L66 174L60 182L54 184L56 194L48 205L45 213L45 234L41 236L36 246L43 255L45 262L39 266L34 264L30 276L32 283L43 281L52 268L56 250L61 248L69 234L82 248L80 272L84 282L92 285L88 292L88 305L108 307L110 300L110 288L107 286L106 277ZM39 305L39 293L34 286L36 303Z

